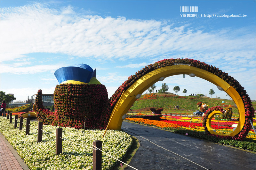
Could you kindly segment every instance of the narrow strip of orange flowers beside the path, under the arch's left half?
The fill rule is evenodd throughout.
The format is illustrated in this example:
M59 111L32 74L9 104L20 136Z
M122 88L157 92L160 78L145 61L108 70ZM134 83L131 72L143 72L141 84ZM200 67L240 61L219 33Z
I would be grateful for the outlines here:
M158 128L178 128L181 127L180 125L174 124L174 123L167 123L163 121L155 121L155 120L149 120L149 119L142 119L142 118L126 118L125 120L141 123L145 125L155 126Z

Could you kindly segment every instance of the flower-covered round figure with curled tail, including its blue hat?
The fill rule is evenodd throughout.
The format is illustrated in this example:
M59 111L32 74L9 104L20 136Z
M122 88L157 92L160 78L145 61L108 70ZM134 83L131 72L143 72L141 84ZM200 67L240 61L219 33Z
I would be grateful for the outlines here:
M60 83L54 91L55 113L44 109L39 90L37 119L54 126L81 129L85 124L85 129L105 129L111 114L110 103L105 85L96 79L96 69L76 64L62 67L54 75Z

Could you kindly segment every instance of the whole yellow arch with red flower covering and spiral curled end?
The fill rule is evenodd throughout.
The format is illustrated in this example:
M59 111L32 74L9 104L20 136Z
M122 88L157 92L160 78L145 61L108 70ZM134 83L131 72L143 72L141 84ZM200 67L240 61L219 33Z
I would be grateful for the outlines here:
M207 120L209 120L209 115L216 114L215 112L212 113L215 111L214 108L210 108L204 116L203 124L206 130L214 135L222 135L239 140L243 140L247 136L251 129L250 119L253 120L254 109L244 87L233 77L228 76L228 73L222 72L212 65L187 58L164 59L154 64L149 64L147 67L136 72L135 75L130 76L110 98L113 110L108 122L108 129L121 129L125 114L136 101L138 94L142 94L142 92L157 81L178 74L190 74L190 76L203 78L227 92L236 103L239 110L239 123L235 131L223 135L211 129L211 124L209 124L209 121L207 123Z

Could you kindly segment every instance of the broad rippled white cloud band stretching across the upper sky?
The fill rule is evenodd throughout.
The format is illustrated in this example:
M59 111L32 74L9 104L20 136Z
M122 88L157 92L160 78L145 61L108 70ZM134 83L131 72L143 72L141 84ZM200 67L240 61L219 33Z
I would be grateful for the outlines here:
M239 37L230 37L227 31L203 33L186 31L186 27L173 27L156 20L81 16L72 6L59 11L36 3L3 8L1 62L33 52L63 53L101 61L148 58L173 51L180 54L196 51L201 55L219 51L224 61L243 58L246 53L255 56L252 34L240 30L234 32Z

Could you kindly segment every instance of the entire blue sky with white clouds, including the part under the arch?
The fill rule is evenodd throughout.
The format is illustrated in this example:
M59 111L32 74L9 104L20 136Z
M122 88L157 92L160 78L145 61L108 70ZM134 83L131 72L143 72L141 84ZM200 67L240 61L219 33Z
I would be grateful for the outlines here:
M0 8L0 90L16 101L38 89L53 94L54 72L78 63L97 70L110 98L129 76L168 58L215 66L256 98L255 1L1 0ZM198 77L171 76L156 90L162 83L182 96L211 97L212 88L213 98L229 99Z

